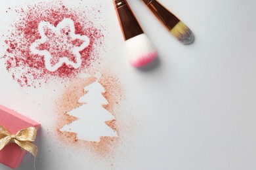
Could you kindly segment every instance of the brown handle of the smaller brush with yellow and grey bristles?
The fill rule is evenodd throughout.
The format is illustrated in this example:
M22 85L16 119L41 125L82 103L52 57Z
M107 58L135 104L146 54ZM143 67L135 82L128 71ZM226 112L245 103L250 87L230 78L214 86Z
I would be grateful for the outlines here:
M171 30L175 27L176 24L179 23L179 19L172 14L169 10L167 10L161 3L156 0L142 0L148 8L155 14L156 17L160 20L160 22L167 27L167 29Z

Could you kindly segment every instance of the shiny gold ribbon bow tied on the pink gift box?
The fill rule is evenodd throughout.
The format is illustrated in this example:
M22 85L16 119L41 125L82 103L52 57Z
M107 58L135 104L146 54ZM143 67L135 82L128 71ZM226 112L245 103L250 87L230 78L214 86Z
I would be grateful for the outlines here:
M0 125L0 150L2 150L8 143L16 143L20 148L30 152L35 158L37 155L37 146L32 142L35 141L37 129L35 127L28 127L22 129L12 135L5 127ZM35 162L34 162L35 165Z

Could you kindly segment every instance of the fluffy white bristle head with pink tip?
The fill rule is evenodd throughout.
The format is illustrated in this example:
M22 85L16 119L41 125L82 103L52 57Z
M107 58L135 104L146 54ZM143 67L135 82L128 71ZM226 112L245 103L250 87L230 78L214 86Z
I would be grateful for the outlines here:
M133 67L146 65L158 56L158 50L144 33L125 41L125 46L127 57Z

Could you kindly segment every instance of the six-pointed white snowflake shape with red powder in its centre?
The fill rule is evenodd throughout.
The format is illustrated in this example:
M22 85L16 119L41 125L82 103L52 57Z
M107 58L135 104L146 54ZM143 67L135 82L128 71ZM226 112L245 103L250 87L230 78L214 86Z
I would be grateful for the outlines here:
M37 39L30 46L33 54L44 56L45 67L49 71L56 71L62 65L77 69L81 66L81 50L89 46L89 38L75 34L74 21L64 18L56 27L49 22L38 25L41 39Z

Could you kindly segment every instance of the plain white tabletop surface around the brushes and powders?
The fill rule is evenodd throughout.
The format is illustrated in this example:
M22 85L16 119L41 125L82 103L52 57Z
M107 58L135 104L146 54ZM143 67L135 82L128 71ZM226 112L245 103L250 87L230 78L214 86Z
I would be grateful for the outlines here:
M5 2L1 1L1 9ZM126 141L119 144L112 166L86 152L59 146L47 133L54 124L49 101L60 95L53 91L58 84L20 88L1 69L0 103L43 125L37 169L256 169L256 1L160 2L192 29L196 41L182 45L141 1L130 0L159 50L152 68L134 69L124 57L112 1L102 1L112 41L110 66L119 73L131 104L120 119L133 117L127 122L131 128L139 124L132 134L124 134ZM26 155L19 170L32 167L33 159ZM9 168L0 165L0 169Z

